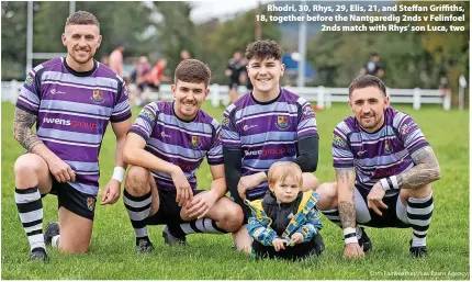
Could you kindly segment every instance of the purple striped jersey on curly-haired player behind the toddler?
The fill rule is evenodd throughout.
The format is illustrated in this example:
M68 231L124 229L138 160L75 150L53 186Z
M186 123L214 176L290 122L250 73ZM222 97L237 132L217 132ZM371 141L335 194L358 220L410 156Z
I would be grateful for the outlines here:
M241 177L269 170L276 161L293 161L297 140L318 136L315 112L301 97L281 88L279 97L266 103L246 93L223 114L223 146L241 150ZM258 199L267 191L263 182L246 195Z

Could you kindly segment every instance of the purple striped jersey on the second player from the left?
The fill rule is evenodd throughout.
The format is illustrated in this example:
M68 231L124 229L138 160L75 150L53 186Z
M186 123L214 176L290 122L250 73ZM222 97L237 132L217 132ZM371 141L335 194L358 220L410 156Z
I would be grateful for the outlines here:
M147 151L179 166L192 189L196 189L195 173L203 158L210 166L223 163L221 125L203 110L186 122L177 117L173 102L153 102L141 111L130 132L146 140ZM159 189L176 189L170 174L154 170L150 173Z

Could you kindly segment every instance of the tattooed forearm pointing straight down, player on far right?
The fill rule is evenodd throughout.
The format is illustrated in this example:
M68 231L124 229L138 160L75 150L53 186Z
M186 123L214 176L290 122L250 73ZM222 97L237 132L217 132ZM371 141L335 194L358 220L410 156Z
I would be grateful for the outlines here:
M336 169L338 211L342 228L356 227L355 172L352 169Z

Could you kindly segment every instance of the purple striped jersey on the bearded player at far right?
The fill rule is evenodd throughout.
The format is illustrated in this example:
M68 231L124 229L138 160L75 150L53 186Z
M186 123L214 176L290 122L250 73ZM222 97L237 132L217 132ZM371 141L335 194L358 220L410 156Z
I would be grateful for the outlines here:
M412 168L412 154L429 146L409 115L392 108L387 108L384 114L384 125L374 133L364 132L355 116L340 122L333 133L334 167L355 168L356 187L363 195L380 179ZM397 192L389 190L385 195Z

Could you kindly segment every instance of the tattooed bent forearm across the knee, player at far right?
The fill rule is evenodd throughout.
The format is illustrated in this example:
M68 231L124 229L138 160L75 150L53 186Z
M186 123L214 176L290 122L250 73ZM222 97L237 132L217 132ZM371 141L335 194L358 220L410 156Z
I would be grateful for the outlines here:
M400 189L415 189L441 178L438 160L432 148L427 146L412 154L415 166L402 173L396 179Z

